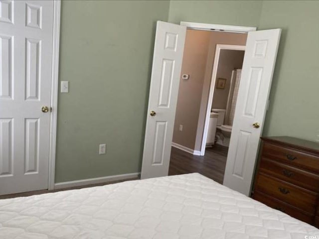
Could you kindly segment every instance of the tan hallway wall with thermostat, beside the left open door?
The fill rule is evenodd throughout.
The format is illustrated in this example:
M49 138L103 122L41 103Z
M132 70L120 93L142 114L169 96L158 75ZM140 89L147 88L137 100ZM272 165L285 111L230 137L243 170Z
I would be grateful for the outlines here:
M200 95L205 77L210 32L187 30L181 74L189 74L188 80L180 80L173 142L194 148ZM179 125L183 131L179 131Z

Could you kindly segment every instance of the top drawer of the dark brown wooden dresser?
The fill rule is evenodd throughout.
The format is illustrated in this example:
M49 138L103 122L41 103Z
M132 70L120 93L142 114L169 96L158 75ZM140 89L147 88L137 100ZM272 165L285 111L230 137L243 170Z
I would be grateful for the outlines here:
M284 163L319 172L319 157L296 151L294 149L277 146L272 143L264 142L263 157L269 159L277 159Z

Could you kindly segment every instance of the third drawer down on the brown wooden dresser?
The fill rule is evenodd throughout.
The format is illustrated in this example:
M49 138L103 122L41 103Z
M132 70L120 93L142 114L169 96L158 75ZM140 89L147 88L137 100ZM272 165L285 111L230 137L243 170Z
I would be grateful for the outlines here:
M317 193L275 179L262 172L259 172L255 189L310 214L315 214Z

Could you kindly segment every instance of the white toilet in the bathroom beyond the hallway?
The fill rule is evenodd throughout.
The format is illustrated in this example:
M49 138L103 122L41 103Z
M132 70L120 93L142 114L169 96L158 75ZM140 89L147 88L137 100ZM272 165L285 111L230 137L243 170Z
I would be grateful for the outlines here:
M232 125L224 124L225 120L225 109L212 109L212 112L218 113L217 119L217 129L222 134L222 137L218 138L218 131L217 131L217 143L223 146L229 146L230 135L232 130Z

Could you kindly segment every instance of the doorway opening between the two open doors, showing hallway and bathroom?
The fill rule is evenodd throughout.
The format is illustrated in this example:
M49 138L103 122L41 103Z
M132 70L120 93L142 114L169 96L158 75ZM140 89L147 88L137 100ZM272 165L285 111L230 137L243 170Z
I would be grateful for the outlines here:
M169 175L222 183L247 33L187 29Z

